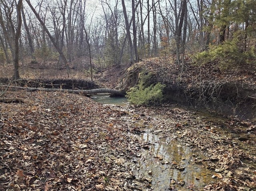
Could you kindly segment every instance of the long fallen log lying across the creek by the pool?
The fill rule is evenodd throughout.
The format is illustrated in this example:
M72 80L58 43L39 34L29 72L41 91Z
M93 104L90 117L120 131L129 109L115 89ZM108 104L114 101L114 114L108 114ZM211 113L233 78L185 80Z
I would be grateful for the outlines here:
M98 89L90 89L90 90L70 90L70 89L48 89L48 88L31 88L31 87L20 87L20 86L7 86L2 85L0 86L0 89L6 90L6 88L9 91L45 91L45 92L66 92L66 93L75 93L75 94L81 94L81 95L92 95L92 94L98 94L98 93L110 93L114 96L124 96L126 93L123 90L115 90L115 89L107 89L107 88L98 88Z

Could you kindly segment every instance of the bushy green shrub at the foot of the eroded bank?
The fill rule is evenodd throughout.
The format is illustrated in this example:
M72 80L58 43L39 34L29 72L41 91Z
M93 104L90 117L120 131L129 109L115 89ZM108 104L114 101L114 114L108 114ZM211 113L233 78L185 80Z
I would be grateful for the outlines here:
M139 83L127 92L128 100L137 105L158 105L163 100L163 89L165 85L161 83L149 84L152 73L139 75Z

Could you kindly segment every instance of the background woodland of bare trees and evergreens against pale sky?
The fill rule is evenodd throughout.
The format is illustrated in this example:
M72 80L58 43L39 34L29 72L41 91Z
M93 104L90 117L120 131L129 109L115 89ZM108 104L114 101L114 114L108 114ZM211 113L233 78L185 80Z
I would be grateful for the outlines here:
M229 69L255 64L255 31L254 0L0 0L0 63L13 62L15 78L20 65L57 61L67 77L85 70L93 79L147 57L179 65L186 54Z

